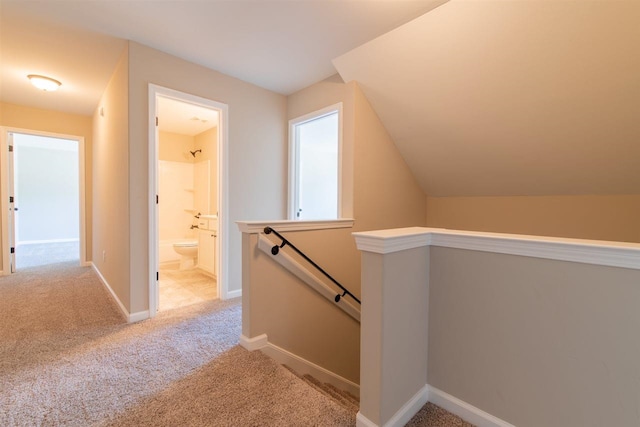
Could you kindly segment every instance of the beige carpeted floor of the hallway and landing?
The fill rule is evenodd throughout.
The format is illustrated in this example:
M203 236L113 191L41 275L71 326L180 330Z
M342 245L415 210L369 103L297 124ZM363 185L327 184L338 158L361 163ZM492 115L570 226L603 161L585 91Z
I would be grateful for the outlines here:
M0 425L355 425L354 409L239 347L240 319L239 300L211 301L128 325L75 263L0 278ZM468 425L437 410L410 425Z

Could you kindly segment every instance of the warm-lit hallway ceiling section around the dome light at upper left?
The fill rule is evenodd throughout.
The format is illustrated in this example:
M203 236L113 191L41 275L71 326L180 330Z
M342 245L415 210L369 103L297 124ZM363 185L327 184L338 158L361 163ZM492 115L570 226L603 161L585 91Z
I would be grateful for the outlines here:
M0 0L0 101L93 114L124 40L30 16L29 6ZM52 77L62 86L37 90L28 74Z

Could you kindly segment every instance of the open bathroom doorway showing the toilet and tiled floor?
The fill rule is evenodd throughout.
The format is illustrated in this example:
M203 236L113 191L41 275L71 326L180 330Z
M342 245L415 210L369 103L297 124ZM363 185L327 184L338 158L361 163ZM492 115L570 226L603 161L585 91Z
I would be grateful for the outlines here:
M150 85L150 315L225 298L226 106ZM221 268L222 267L222 268Z

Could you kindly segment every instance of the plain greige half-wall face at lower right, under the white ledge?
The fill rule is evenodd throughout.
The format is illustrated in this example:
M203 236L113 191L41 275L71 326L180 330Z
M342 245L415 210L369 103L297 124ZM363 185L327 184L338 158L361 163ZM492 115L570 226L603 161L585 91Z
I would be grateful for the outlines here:
M639 424L640 271L430 252L431 386L522 427Z

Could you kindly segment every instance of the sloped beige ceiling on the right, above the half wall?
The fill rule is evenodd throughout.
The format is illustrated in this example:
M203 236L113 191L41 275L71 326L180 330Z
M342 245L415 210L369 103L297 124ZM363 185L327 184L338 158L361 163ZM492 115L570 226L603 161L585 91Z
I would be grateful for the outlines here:
M640 2L452 0L334 65L430 196L640 193Z

